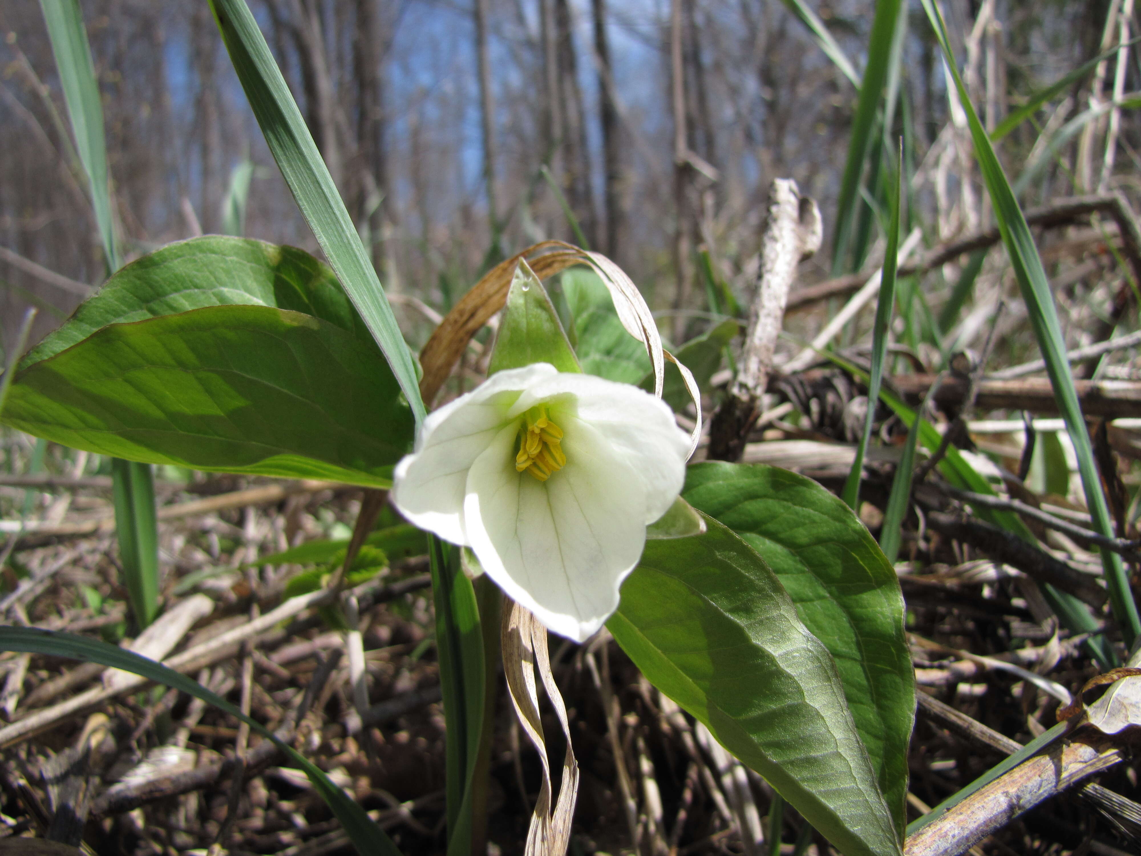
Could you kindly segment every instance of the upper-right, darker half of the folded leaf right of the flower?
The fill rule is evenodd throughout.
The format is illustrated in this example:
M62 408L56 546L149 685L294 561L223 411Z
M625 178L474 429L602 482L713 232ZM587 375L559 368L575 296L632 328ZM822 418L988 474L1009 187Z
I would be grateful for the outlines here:
M682 495L756 550L800 620L835 659L848 708L903 835L915 679L895 568L840 499L788 470L697 463Z

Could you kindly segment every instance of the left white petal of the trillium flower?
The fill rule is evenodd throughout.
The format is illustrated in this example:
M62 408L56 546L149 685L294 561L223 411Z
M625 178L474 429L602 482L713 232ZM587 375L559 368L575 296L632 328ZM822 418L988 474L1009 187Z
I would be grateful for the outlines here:
M548 363L502 371L434 411L416 437L415 451L393 474L393 502L400 514L445 541L468 544L463 525L468 469L508 421L519 393L555 374Z

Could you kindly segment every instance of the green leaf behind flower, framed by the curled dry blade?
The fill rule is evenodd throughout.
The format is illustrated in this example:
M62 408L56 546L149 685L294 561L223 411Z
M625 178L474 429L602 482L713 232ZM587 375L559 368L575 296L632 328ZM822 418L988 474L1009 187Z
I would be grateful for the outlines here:
M573 318L575 354L586 374L638 383L652 373L646 347L622 326L598 274L572 268L563 274L561 284Z

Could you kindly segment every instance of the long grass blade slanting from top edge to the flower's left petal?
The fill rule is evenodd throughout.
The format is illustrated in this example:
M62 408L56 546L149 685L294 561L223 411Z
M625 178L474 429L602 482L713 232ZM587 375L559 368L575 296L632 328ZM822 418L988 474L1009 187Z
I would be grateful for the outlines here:
M210 6L269 151L325 258L393 366L419 425L426 411L412 353L258 22L245 0L211 0Z

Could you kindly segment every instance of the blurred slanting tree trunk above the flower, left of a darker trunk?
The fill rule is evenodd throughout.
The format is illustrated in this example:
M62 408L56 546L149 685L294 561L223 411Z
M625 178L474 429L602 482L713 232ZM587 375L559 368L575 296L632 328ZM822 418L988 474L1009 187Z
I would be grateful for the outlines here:
M586 119L578 86L578 57L574 47L574 26L567 0L555 0L555 27L558 34L559 89L563 107L563 188L567 203L578 220L586 241L594 237L594 199L590 186L590 154L586 148Z

